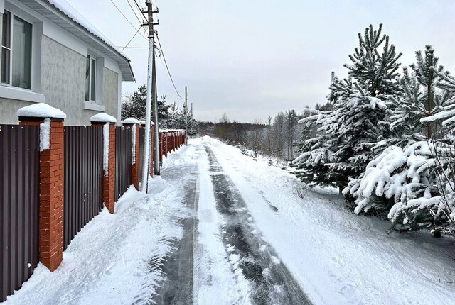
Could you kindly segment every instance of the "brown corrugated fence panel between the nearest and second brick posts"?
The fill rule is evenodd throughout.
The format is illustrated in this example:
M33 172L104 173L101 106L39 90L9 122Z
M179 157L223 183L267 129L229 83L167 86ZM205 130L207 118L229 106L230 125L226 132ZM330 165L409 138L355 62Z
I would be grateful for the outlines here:
M64 249L103 208L102 129L65 126Z

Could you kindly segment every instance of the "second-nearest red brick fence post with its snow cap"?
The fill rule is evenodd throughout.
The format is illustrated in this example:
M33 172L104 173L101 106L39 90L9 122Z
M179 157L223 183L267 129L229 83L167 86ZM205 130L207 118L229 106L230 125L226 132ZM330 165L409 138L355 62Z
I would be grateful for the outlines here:
M116 118L98 113L90 118L94 127L103 128L102 199L110 214L114 214L115 191L115 123Z

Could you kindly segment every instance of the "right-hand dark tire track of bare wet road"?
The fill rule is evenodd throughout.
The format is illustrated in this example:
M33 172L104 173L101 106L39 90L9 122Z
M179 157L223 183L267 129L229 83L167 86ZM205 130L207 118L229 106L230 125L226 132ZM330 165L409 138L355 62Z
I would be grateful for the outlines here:
M235 270L252 283L254 304L311 304L275 251L255 229L246 204L213 151L205 145L217 209L225 218L223 242Z

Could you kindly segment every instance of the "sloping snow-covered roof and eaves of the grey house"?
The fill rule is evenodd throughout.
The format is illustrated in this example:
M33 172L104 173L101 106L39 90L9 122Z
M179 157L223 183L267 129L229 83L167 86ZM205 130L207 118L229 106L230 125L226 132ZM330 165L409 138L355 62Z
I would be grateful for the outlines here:
M127 55L117 49L115 45L92 26L73 6L65 0L21 0L34 11L48 18L61 28L68 30L80 40L90 45L91 48L102 52L114 59L122 71L123 81L135 81L134 73Z

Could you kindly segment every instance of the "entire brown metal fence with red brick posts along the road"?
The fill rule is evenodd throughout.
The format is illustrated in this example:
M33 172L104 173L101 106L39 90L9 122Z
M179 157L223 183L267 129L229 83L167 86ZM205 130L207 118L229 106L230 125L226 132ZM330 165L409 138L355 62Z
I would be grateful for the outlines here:
M20 289L38 260L55 270L75 235L103 206L109 209L109 201L113 212L114 202L130 185L139 187L142 177L145 131L139 125L63 127L63 120L51 120L44 140L48 143L43 145L42 122L32 118L20 126L0 125L0 302ZM139 147L133 143L133 131ZM153 134L152 128L151 145ZM184 131L159 134L161 155L184 144ZM139 166L132 166L135 160ZM134 182L133 177L139 179ZM42 246L51 252L43 253Z

